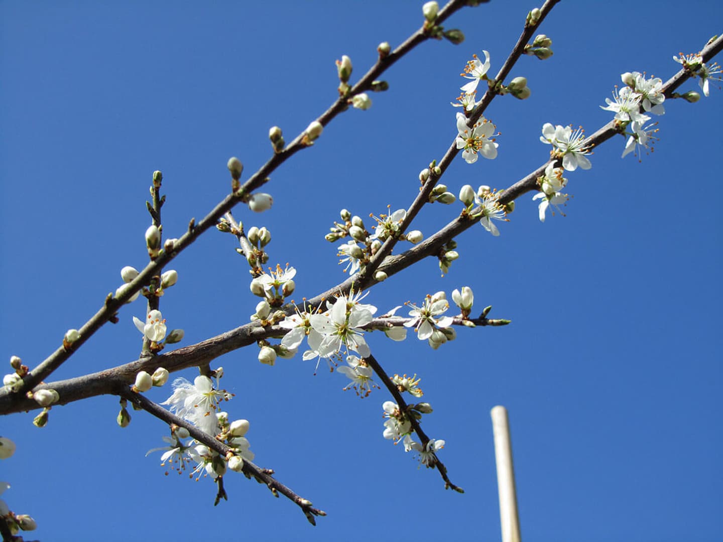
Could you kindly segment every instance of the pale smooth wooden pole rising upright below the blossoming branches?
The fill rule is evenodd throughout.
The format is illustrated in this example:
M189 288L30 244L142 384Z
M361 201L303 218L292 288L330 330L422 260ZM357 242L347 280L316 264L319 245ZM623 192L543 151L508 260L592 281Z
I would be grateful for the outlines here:
M490 411L492 432L495 435L497 491L500 494L500 525L502 542L520 542L520 519L517 514L515 470L512 465L512 442L507 409L497 405Z

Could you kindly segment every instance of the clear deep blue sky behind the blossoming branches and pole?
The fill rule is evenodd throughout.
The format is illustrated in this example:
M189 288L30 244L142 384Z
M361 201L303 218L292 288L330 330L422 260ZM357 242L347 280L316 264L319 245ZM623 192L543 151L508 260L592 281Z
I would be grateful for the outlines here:
M267 134L287 140L335 98L334 60L348 54L356 80L376 46L401 43L421 24L422 2L0 3L0 358L34 366L64 332L80 327L124 265L147 261L143 232L151 173L164 174L166 236L201 218L229 189L226 160L247 174L270 156ZM493 1L448 21L461 46L429 42L393 66L390 91L351 110L268 184L275 205L236 217L273 234L270 264L298 270L296 298L341 282L335 246L323 239L346 207L355 214L407 207L417 173L455 137L449 103L472 53L497 72L531 2ZM502 132L497 160L461 157L444 181L506 187L547 160L545 122L592 133L611 119L604 98L620 73L677 72L672 55L698 51L723 30L723 4L563 1L540 29L548 61L525 57L513 76L532 96L497 98L487 117ZM696 89L688 82L685 90ZM433 351L410 337L368 335L390 373L417 373L435 412L424 429L466 489L445 491L434 470L382 438L385 392L364 400L346 379L301 356L262 366L257 350L217 364L248 418L257 463L325 509L312 528L286 499L227 476L229 502L213 507L208 480L163 476L160 422L96 397L54 408L44 429L33 413L3 418L17 443L0 463L3 498L38 521L43 541L498 540L489 409L510 410L522 532L529 541L723 539L719 339L722 221L718 201L723 93L665 103L660 142L638 163L616 137L590 171L570 173L567 217L542 224L527 194L493 238L475 227L445 278L436 260L395 275L367 300L380 312L424 294L470 285L505 328L460 330ZM425 235L460 210L428 206ZM210 232L171 266L179 283L162 299L190 345L248 321L256 299L234 238ZM52 379L133 361L140 336L125 307ZM8 372L9 366L6 366ZM181 376L194 377L194 370ZM179 376L176 374L175 376ZM148 396L164 400L170 386ZM213 533L213 534L211 534ZM32 534L32 533L30 533ZM32 538L32 537L29 537Z

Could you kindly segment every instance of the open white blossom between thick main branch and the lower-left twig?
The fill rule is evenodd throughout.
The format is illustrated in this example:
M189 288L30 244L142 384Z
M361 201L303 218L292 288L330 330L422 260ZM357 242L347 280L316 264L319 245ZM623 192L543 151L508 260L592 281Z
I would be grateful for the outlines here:
M216 384L218 386L218 377ZM214 410L221 401L231 399L231 394L226 390L214 390L211 379L203 375L196 377L193 384L187 379L177 378L173 388L173 395L161 405L170 405L176 416L190 421L206 434L215 435L218 420Z

